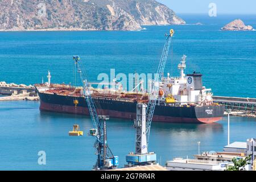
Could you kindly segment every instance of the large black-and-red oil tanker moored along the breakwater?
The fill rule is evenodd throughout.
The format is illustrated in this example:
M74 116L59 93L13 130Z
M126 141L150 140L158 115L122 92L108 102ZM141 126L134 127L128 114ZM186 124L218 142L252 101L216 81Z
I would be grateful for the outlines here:
M213 103L212 90L202 84L202 75L193 72L184 74L186 56L182 57L178 69L179 77L163 77L159 85L159 96L155 106L154 122L177 123L213 123L224 115L225 106ZM144 93L142 81L137 85L139 90L127 92L122 85L116 89L96 89L90 87L92 98L98 105L98 113L109 117L135 119L137 102L147 103L148 93ZM137 87L136 86L136 87ZM36 92L40 97L40 110L61 113L89 115L88 106L82 87L48 82L36 84Z

